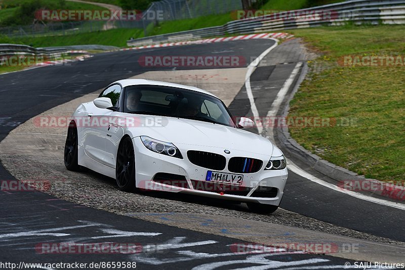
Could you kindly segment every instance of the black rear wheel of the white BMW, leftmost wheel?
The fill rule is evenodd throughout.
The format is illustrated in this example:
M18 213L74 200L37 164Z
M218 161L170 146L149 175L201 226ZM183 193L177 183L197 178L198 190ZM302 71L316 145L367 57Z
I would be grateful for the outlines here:
M67 137L65 143L65 150L63 154L63 160L65 167L71 171L79 171L80 166L77 161L77 127L74 121L70 122L67 129Z

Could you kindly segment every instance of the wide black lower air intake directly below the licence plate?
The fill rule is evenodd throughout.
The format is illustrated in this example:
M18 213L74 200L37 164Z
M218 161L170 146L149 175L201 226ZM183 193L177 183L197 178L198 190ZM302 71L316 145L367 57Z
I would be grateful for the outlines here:
M193 189L200 191L215 192L226 195L247 196L251 188L228 185L215 182L190 180Z

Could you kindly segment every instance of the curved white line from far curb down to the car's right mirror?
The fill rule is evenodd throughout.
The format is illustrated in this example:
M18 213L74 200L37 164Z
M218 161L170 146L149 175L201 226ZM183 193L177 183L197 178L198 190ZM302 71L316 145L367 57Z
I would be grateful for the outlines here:
M250 85L250 76L252 75L253 71L255 70L255 68L259 65L260 61L268 54L270 53L271 50L273 50L274 48L277 47L278 45L278 39L275 38L269 38L271 40L274 40L275 43L273 46L271 46L270 48L268 48L266 51L264 51L261 55L259 55L258 58L256 58L255 60L252 61L252 63L249 64L248 66L248 72L246 73L245 76L245 87L246 87L246 93L248 94L248 98L249 98L249 102L250 102L250 108L252 110L253 116L254 116L254 121L255 121L255 125L257 126L257 129L259 130L259 134L262 133L263 131L263 127L262 127L262 123L258 123L257 120L260 119L259 118L259 112L257 110L256 104L255 104L255 98L253 97L252 94L252 87ZM260 121L260 120L259 120Z

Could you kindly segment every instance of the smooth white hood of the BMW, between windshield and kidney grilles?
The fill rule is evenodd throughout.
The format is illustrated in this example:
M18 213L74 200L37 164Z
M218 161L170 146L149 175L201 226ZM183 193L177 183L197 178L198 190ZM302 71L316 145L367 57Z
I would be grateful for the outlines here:
M144 116L141 116L144 117ZM272 143L255 133L230 126L209 122L146 116L152 127L135 128L133 134L179 145L217 147L271 156Z

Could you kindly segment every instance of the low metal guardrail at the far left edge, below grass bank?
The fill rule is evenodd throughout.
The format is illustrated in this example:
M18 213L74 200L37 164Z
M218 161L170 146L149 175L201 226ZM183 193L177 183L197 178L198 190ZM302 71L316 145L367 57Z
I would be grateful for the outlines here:
M3 55L15 55L15 54L32 54L32 55L47 55L54 56L67 53L70 50L103 50L112 51L117 50L118 47L104 46L104 45L75 45L65 47L46 47L46 48L34 48L22 44L0 44L0 56Z

